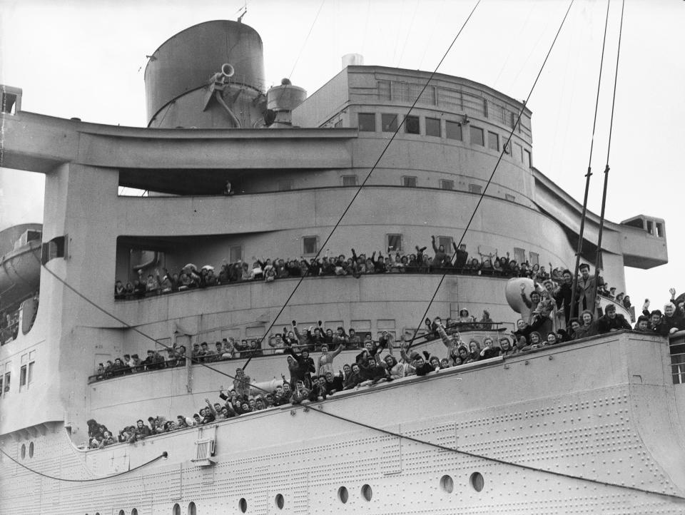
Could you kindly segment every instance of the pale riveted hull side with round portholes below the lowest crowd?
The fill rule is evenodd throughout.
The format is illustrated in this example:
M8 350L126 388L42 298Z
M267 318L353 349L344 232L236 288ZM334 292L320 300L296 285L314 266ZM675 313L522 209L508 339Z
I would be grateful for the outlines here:
M4 457L0 511L682 514L682 392L670 379L665 340L623 332L136 444L82 451L53 424L4 451L68 479L168 457L96 488ZM193 461L203 439L215 452Z

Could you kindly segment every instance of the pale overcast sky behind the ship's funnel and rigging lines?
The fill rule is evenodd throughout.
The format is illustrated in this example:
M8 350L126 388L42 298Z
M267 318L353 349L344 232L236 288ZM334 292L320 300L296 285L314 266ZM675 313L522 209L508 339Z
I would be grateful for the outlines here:
M365 64L432 71L476 0L250 0L268 85L290 77L313 93L345 53ZM440 72L526 98L568 1L482 0ZM24 111L145 126L146 55L186 27L235 19L245 0L0 0L0 83L23 89ZM576 0L529 102L534 165L582 201L607 2ZM621 1L613 0L592 160L599 213ZM685 2L628 0L623 26L607 218L666 220L669 264L626 269L634 304L681 292L685 180ZM309 36L308 36L309 34ZM0 229L41 221L42 175L1 170ZM35 195L31 195L35 192ZM34 198L28 201L27 198ZM544 235L541 235L544 237Z

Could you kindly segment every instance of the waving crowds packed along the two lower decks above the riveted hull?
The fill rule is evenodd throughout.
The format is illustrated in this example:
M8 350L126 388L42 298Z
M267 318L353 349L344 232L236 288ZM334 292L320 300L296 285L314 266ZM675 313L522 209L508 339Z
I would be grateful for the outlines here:
M372 340L369 333L361 337L354 330L345 332L343 327L338 327L335 332L325 330L322 322L318 322L318 327L309 327L300 332L297 322L293 320L290 330L284 327L282 334L272 335L268 340L275 353L285 356L289 377L286 378L285 374L282 374L283 382L279 381L273 388L258 387L243 369L238 368L233 378L233 387L228 391L220 389L218 392L220 402L205 399L206 405L198 407L192 416L179 414L173 420L166 420L160 416L148 417L148 424L143 419L138 419L135 425L121 429L116 437L102 424L93 419L88 420L89 447L101 448L117 442L133 443L155 434L211 424L221 419L240 417L283 404L319 402L345 390L392 382L404 377L438 374L441 370L463 364L497 356L515 356L542 347L618 330L633 329L664 336L685 330L685 297L676 299L676 290L673 288L669 290L671 299L664 305L664 312L650 312L650 303L646 300L643 314L634 327L631 327L623 315L617 313L614 304L609 304L599 317L595 316L597 307L593 306L592 310L583 310L580 317L572 318L568 327L554 329L552 325L551 330L545 330L544 327L549 327L547 321L551 321L553 310L550 305L562 307L564 296L559 295L560 288L561 286L552 288L551 293L547 289L542 290L542 294L537 290L532 292L529 296L532 307L529 320L517 320L516 330L511 332L510 337L495 332L493 334L497 334L497 337L486 335L482 340L462 339L460 330L492 327L494 322L487 320L487 312L484 312L484 317L480 321L470 316L467 310L460 312L459 320L447 319L444 324L440 317L426 319L429 337L434 334L440 337L445 345L445 355L412 351L412 343L405 341L403 337L400 338L399 345L395 345L395 338L385 331L377 341ZM523 291L522 295L525 295ZM533 305L535 301L537 305ZM206 343L194 345L192 357L199 362L213 362L232 359L242 352L250 352L249 344L247 350L243 350L245 340L240 342L240 345L235 340L217 342L214 349L210 349ZM350 348L360 350L355 361L345 363L340 368L336 367L335 358L342 350ZM173 363L171 366L185 364L185 352L184 347L173 347L170 352L171 359L168 360ZM396 352L399 352L399 357ZM161 366L166 366L165 360L155 351L148 351L145 362L135 365L139 369Z

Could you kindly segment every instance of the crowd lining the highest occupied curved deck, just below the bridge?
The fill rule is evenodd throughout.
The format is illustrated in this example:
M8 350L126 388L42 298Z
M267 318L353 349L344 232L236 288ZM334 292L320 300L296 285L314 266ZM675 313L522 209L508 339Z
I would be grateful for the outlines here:
M517 262L509 259L509 253L499 255L483 255L469 259L469 253L465 244L457 246L452 243L452 250L445 249L444 245L437 245L435 236L432 236L432 250L434 255L426 253L427 247L416 246L415 253L395 255L382 255L373 252L357 255L355 249L351 249L352 255L347 257L343 254L337 257L299 259L270 257L257 259L253 257L252 266L248 262L238 260L228 262L224 260L218 272L212 265L198 268L193 263L188 263L181 270L169 271L166 268L155 270L154 273L145 275L143 270L138 270L138 277L133 282L123 284L116 280L114 285L114 297L116 300L140 299L151 295L161 295L172 292L206 288L216 285L225 285L234 282L262 280L270 282L286 277L317 277L322 275L350 275L361 277L367 274L386 273L449 273L465 275L489 275L499 277L531 277L537 280L560 278L562 269L553 268L549 263L549 269L539 264L529 262ZM607 290L609 295L609 290ZM622 294L621 294L622 295Z

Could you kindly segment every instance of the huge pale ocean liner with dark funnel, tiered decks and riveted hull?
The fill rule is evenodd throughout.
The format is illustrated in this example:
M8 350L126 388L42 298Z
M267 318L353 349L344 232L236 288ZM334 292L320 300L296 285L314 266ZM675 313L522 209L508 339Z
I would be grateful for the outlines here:
M209 367L105 377L98 363L262 340L291 320L400 340L440 277L310 275L116 298L115 280L138 271L352 248L408 256L431 235L450 248L479 201L465 240L479 261L572 267L578 246L594 259L599 217L588 213L579 242L582 206L534 168L520 101L358 56L310 96L288 81L265 91L262 77L257 32L209 21L153 53L147 128L23 111L21 90L2 86L3 165L44 173L46 193L42 227L0 235L0 512L682 514L678 334L612 332L88 449L88 419L114 432L171 420L216 399L238 367L255 389L287 370L268 345ZM665 263L665 234L659 218L605 222L607 281L623 287L625 266ZM494 274L447 275L431 315L512 320L506 289ZM445 352L430 334L415 349Z

